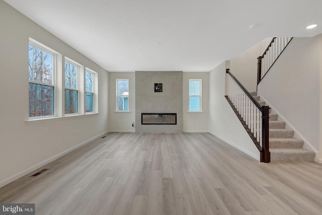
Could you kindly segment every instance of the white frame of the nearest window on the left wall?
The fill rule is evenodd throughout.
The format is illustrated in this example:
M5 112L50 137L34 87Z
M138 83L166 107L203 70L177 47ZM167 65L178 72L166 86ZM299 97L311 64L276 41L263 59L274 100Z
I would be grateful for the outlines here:
M28 114L28 117L29 117L29 120L36 120L36 119L45 119L45 118L53 118L53 117L56 117L57 116L57 113L56 113L56 107L57 107L57 104L56 104L56 94L57 94L57 84L56 84L56 78L57 78L57 55L59 54L58 52L56 52L55 50L49 48L48 46L45 46L44 44L32 39L32 38L29 38L29 44L28 44L28 47L29 45L35 47L35 48L38 48L42 51L45 51L49 54L51 54L53 57L52 57L52 83L49 84L49 83L44 83L44 82L41 82L41 81L35 81L35 80L30 80L29 77L28 77L28 85L29 83L34 83L34 84L41 84L41 85L45 85L45 86L51 86L53 87L53 115L49 115L49 116L39 116L39 117L29 117L29 114ZM29 54L28 54L28 58L29 58ZM29 102L29 96L28 96L28 102Z

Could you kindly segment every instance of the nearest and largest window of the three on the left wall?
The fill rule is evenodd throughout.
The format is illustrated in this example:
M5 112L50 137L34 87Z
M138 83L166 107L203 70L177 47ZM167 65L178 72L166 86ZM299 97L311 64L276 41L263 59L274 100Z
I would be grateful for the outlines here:
M29 117L55 115L56 54L42 44L29 43Z

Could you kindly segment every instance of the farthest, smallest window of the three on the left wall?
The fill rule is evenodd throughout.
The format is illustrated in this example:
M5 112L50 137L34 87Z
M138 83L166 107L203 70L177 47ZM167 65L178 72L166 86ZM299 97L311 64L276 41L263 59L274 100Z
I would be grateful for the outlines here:
M85 71L85 110L94 112L94 72L86 69Z

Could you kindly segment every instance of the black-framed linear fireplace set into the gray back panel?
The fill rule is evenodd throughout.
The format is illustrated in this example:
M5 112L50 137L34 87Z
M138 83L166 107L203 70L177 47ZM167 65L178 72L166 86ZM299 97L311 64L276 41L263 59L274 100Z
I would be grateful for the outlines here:
M142 125L177 125L177 114L141 113Z

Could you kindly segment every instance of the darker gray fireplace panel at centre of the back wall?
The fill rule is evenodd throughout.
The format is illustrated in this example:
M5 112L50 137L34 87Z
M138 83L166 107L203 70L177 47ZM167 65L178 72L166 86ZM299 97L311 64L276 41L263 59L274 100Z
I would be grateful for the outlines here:
M182 72L135 72L136 132L182 132ZM154 92L163 83L163 92ZM141 113L177 113L177 125L141 125Z

